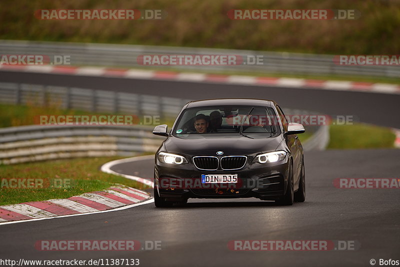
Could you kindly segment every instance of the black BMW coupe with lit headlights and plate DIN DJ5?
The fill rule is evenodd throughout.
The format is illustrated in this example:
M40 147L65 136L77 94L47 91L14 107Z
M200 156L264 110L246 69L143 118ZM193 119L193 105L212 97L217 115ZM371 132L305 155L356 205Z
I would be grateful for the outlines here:
M292 205L305 200L301 124L287 123L270 100L210 99L187 103L155 154L154 203L188 198L256 197Z

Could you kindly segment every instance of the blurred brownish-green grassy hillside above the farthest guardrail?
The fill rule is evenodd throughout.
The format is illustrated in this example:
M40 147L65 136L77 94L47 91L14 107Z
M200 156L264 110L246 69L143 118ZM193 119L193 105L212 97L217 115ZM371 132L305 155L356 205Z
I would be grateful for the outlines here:
M163 20L45 21L39 9L160 9ZM350 9L348 21L232 21L231 9ZM394 0L82 0L0 2L0 38L288 51L318 54L398 54L400 2Z

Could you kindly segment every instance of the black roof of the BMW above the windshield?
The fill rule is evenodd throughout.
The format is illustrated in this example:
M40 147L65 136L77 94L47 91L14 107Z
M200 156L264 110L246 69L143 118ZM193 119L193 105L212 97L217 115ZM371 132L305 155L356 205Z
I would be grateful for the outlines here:
M238 105L238 106L262 106L271 107L275 101L267 99L251 99L251 98L221 98L221 99L205 99L191 101L187 103L186 108L206 107L206 106L227 106L227 105Z

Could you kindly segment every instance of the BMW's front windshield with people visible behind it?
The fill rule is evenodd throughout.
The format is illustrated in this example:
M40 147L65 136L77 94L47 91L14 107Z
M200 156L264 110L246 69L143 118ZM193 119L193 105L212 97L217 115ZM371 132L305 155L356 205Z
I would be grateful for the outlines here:
M177 119L172 135L180 138L243 135L266 138L279 134L277 118L270 107L218 106L188 108ZM194 137L196 136L196 137Z

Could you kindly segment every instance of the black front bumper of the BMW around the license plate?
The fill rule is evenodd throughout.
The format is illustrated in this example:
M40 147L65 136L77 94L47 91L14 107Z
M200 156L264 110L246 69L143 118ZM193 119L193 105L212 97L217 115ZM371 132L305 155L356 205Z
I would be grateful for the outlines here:
M194 164L170 165L155 159L154 180L159 196L166 201L187 198L256 197L278 200L285 194L288 180L288 155L275 163L246 164L237 170L199 170ZM237 174L237 183L202 184L202 174Z

